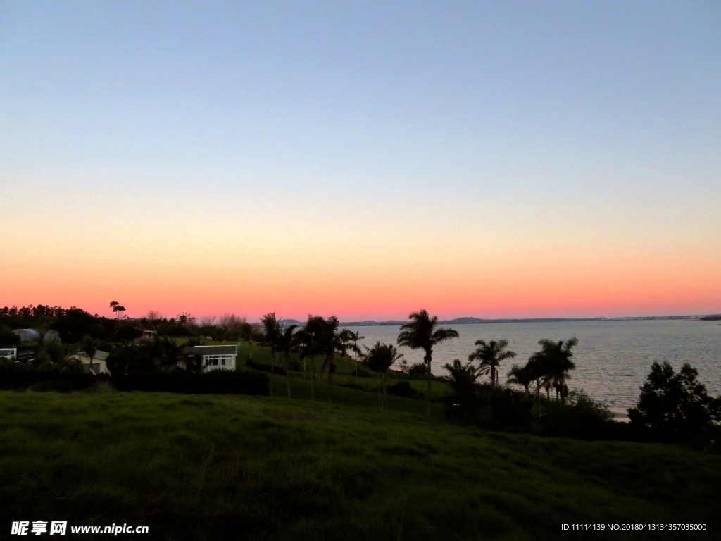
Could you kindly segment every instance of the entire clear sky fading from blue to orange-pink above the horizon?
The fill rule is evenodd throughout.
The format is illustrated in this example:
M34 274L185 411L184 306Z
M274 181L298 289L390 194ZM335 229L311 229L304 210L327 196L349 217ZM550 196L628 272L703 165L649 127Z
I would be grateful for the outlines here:
M0 306L721 312L721 4L0 0Z

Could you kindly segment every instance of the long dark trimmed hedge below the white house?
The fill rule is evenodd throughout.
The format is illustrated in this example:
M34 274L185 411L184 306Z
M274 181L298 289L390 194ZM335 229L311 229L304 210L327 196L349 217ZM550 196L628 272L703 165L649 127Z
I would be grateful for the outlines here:
M179 392L185 395L267 395L269 379L251 371L213 370L195 374L184 370L112 377L119 391Z

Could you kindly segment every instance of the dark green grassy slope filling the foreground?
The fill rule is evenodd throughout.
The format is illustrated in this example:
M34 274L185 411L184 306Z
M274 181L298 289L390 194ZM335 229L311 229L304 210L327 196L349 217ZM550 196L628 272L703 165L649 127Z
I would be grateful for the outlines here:
M381 412L367 407L371 393L336 390L333 405L0 392L2 532L12 520L43 519L147 524L154 535L143 538L169 540L719 535L717 455L451 426L413 413L413 400ZM560 530L581 522L708 529L675 537Z

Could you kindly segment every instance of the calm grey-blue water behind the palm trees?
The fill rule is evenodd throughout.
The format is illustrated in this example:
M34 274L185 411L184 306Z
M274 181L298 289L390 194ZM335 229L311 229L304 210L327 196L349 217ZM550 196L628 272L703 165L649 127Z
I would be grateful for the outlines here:
M614 413L634 406L653 361L668 361L675 369L688 361L699 370L699 379L709 394L721 394L721 326L713 321L635 320L542 323L490 323L453 325L460 338L433 351L433 373L443 374L443 365L453 359L465 361L479 339L508 340L515 359L501 365L501 378L512 364L525 364L538 351L541 338L566 340L575 336L578 346L569 387L584 389ZM399 327L349 327L365 336L361 343L376 340L395 343ZM422 362L421 351L400 348L409 364Z

